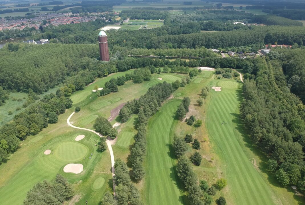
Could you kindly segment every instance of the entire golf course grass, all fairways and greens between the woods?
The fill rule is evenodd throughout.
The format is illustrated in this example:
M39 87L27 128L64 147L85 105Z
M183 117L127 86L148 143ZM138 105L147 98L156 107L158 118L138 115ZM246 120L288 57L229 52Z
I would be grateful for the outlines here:
M88 204L98 204L106 190L113 191L109 151L98 152L95 144L98 144L99 136L74 129L66 120L74 108L79 106L81 111L71 117L71 124L93 129L97 116L109 118L111 111L127 101L139 98L149 87L163 81L171 83L186 76L155 73L150 81L138 84L126 82L119 87L117 93L97 97L92 92L95 85L103 87L112 77L130 72L133 71L99 78L84 90L75 92L71 96L73 108L59 115L58 123L50 124L38 135L30 136L22 142L20 149L10 160L0 166L1 204L21 204L27 191L36 182L53 180L57 173L74 183L75 196L72 204L85 204L85 200L88 200ZM199 107L196 100L204 86L221 87L221 91L210 89L205 103ZM194 166L199 179L205 179L209 185L219 178L228 180L228 186L218 192L215 199L224 196L228 204L298 204L292 192L274 186L272 179L260 170L260 156L256 155L255 148L249 146L247 136L243 135L238 118L241 86L242 83L233 79L217 79L214 71L203 71L190 84L178 88L149 119L144 161L146 174L141 182L135 184L144 204L188 204L185 189L178 181L175 167L177 161L171 147L174 133L179 136L192 133L201 143L203 162L198 167ZM187 116L195 115L202 119L203 125L199 128L186 125L175 118L181 99L187 96L191 99ZM110 119L112 125L120 120L117 117ZM137 132L136 121L137 116L134 115L117 126L119 134L112 145L115 159L127 161L130 145ZM76 141L79 135L84 135L84 138ZM45 150L51 150L50 154L44 154ZM190 145L188 154L193 151ZM64 172L63 168L69 163L82 164L83 171L79 174Z

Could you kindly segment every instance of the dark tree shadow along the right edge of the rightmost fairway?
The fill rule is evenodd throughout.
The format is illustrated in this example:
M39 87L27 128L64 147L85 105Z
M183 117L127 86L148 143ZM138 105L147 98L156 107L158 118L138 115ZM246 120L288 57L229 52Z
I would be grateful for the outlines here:
M240 102L242 102L244 100L243 97L243 93L241 89L236 90L237 93L237 99ZM281 184L278 183L278 180L276 179L274 174L271 174L270 172L267 171L267 160L268 158L265 156L265 154L263 152L261 152L253 143L253 141L250 139L250 136L244 126L244 124L242 123L242 119L240 114L237 113L230 113L231 115L233 115L233 120L232 122L235 123L235 129L240 133L240 135L242 136L242 142L247 148L249 148L251 150L251 152L253 152L260 160L258 169L267 174L267 180L270 184L272 184L273 186L276 187L282 187L283 186ZM254 165L253 165L254 166ZM286 187L286 190L288 192L294 193L293 198L298 202L298 204L300 205L305 205L305 200L303 196L299 196L295 194L295 191L291 188L291 187Z

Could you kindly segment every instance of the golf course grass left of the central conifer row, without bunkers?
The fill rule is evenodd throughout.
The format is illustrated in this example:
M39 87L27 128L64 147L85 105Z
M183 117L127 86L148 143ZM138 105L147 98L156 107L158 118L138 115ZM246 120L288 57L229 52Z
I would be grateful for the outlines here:
M74 102L73 108L59 115L59 122L50 124L38 135L30 136L21 143L21 147L14 153L7 163L0 166L0 199L1 204L21 204L26 193L38 181L53 180L57 173L67 177L75 185L76 204L98 204L106 190L112 190L112 174L109 151L99 153L97 147L99 137L94 133L69 127L66 119L74 110L80 106L81 111L74 114L70 122L75 126L92 129L95 118L102 115L110 116L110 111L121 103L140 97L149 87L162 82L158 77L173 82L181 79L174 73L153 74L150 81L134 84L132 81L119 86L119 92L106 96L97 97L92 90L95 85L103 87L106 81L117 76L131 73L114 73L105 78L99 78L95 83L87 86L84 90L75 92L71 98ZM117 145L113 146L115 157L127 160L129 145L133 143L135 116L121 127L117 137ZM112 123L114 123L113 120ZM80 141L75 141L78 135L85 135ZM50 149L51 154L45 155L44 151ZM54 153L54 154L52 154ZM91 156L91 153L93 154ZM92 157L89 159L89 156ZM85 158L85 160L83 159ZM80 174L65 173L63 167L69 163L83 164L84 171Z

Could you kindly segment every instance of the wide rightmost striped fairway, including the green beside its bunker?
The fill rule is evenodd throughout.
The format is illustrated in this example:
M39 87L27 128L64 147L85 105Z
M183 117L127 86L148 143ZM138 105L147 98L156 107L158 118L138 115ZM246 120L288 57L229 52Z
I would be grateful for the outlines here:
M279 204L266 178L247 157L241 133L236 128L235 120L239 113L238 91L241 84L221 80L216 85L221 86L222 91L213 91L207 111L206 127L210 140L216 145L216 153L223 163L233 204Z

